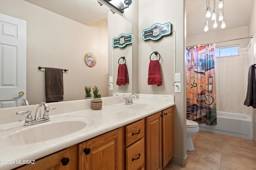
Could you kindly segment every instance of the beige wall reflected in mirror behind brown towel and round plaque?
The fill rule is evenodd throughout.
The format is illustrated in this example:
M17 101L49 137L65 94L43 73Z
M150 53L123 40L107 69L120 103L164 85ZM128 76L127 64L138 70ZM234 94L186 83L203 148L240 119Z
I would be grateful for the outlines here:
M44 70L38 66L69 70L63 73L64 101L84 98L84 86L98 86L108 96L108 23L82 25L23 0L1 0L0 13L27 21L27 99L45 101ZM97 63L89 67L86 53Z

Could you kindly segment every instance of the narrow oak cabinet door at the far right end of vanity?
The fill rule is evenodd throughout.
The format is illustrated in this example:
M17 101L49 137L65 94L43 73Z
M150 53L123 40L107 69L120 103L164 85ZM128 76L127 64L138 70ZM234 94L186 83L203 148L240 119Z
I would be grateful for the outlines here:
M162 165L164 168L173 156L173 111L172 107L162 111Z

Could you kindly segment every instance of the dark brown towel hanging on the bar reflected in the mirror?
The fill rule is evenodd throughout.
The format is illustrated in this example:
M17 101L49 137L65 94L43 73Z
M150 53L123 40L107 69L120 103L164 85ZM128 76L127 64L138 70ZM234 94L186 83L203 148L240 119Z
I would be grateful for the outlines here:
M45 68L46 102L63 100L63 70L60 68Z

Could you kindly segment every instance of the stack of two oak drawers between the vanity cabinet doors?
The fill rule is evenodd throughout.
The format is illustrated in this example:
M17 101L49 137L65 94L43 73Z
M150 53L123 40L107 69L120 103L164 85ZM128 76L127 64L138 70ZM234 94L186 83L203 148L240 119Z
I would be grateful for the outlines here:
M144 119L125 126L125 170L142 170L145 162Z

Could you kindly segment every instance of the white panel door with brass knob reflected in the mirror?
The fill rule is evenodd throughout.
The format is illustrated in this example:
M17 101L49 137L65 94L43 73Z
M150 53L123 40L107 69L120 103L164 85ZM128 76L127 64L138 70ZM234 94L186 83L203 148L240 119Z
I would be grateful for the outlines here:
M20 106L26 98L26 27L26 21L0 14L0 108Z

